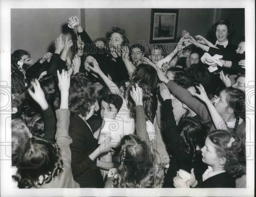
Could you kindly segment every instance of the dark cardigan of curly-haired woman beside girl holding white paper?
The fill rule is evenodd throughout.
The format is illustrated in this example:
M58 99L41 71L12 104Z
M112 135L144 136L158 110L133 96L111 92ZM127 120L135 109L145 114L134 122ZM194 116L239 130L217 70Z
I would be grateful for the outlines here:
M89 155L98 147L89 126L80 117L70 116L69 136L73 143L71 150L71 169L74 180L81 188L103 188L100 169L96 167L97 159L92 161Z

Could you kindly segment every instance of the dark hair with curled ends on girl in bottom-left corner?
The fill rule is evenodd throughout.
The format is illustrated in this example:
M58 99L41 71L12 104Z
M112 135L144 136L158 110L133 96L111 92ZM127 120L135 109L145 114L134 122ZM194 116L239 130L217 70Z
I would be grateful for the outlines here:
M63 172L63 161L57 143L39 137L19 142L19 163L16 175L12 178L18 182L18 188L39 188L49 183ZM42 181L39 177L42 176Z

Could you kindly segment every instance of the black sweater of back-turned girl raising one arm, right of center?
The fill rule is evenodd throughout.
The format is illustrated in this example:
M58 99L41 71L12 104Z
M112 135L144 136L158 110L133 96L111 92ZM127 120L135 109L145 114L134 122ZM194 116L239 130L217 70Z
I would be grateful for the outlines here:
M165 136L166 139L169 139L168 148L172 155L163 187L174 188L173 178L176 177L179 169L183 169L190 173L192 168L196 168L196 179L200 179L208 166L202 161L202 156L200 153L198 153L194 158L194 161L192 161L192 158L185 152L184 141L177 131L176 121L172 111L172 100L166 99L163 105L165 107L162 115L162 120L165 123L163 136Z

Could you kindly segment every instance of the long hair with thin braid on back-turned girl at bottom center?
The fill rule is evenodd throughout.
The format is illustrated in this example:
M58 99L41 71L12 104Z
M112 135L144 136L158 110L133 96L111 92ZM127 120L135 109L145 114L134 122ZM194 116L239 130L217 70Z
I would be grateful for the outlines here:
M155 169L154 156L145 141L137 135L125 135L116 156L119 168L113 180L114 188L152 188Z

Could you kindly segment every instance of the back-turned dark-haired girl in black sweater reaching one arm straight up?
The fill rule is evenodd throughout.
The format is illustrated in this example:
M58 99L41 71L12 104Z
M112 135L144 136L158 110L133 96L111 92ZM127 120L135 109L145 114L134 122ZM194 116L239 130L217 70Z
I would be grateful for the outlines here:
M168 150L172 156L163 187L173 188L173 178L179 169L190 172L191 168L200 166L201 171L196 173L198 178L207 169L207 165L202 162L200 149L204 146L208 130L200 120L192 117L184 118L176 126L170 92L163 83L160 84L160 91L164 99L162 121L165 129L162 132L165 139L168 139Z

